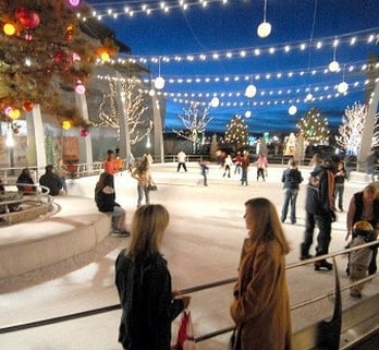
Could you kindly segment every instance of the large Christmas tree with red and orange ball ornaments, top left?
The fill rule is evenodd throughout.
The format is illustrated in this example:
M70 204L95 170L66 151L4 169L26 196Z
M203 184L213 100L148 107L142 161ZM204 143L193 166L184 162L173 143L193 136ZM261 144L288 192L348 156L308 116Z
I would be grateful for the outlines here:
M74 9L76 3L0 1L0 106L27 110L39 104L53 114L66 107L60 86L85 82L96 62L96 45L81 32L77 15L89 8Z

